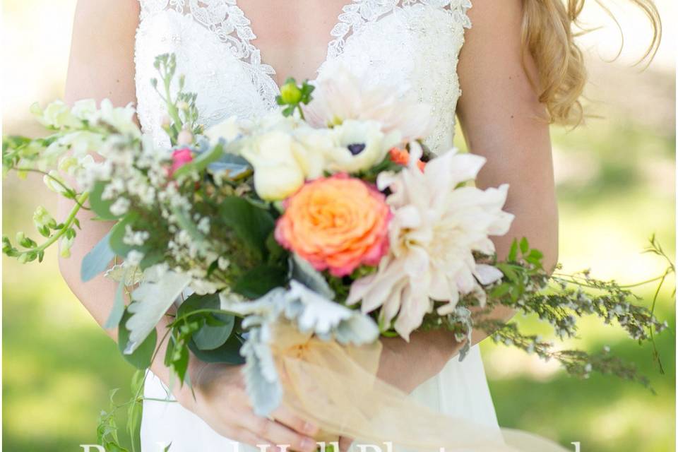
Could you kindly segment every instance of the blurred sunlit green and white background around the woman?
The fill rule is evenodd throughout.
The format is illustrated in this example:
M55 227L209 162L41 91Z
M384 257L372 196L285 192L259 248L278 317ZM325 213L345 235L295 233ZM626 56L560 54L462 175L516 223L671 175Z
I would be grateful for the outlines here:
M3 133L34 133L28 107L62 95L73 0L4 0ZM583 40L590 50L589 112L599 116L575 131L553 129L560 206L561 262L569 271L593 268L599 278L634 283L658 275L663 263L641 254L655 232L674 256L675 6L659 1L665 41L641 72L630 62L646 29L622 13L626 52L614 64L618 35L607 27ZM600 11L587 10L594 23ZM609 25L609 23L608 23ZM459 143L462 143L460 140ZM3 232L32 230L37 204L53 206L40 180L3 182ZM95 441L97 415L108 393L124 400L132 369L59 277L54 253L42 265L3 258L3 443L6 451L78 451ZM648 347L619 329L585 321L576 346L609 345L638 363L656 395L640 386L593 376L578 381L554 363L484 343L484 362L500 424L581 443L581 451L665 452L675 444L675 315L667 282L658 314L670 330L658 338L666 374ZM650 297L653 287L639 290ZM647 302L647 298L646 301ZM572 450L574 447L571 446Z

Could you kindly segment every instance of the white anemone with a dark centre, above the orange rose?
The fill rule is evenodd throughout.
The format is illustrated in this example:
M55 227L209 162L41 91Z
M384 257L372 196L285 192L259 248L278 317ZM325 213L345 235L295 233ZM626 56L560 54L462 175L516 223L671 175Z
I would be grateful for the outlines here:
M335 146L327 153L327 169L358 172L376 165L400 141L399 133L384 133L376 121L349 119L330 132Z

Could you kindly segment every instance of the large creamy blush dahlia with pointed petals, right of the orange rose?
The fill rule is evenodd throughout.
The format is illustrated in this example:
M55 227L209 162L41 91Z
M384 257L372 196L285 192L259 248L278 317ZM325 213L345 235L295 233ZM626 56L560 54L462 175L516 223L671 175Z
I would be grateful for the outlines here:
M362 300L364 312L381 307L381 322L391 323L403 338L422 323L433 301L445 302L449 314L460 295L475 293L484 301L483 285L501 278L492 266L476 263L473 252L493 254L490 235L509 231L513 215L501 208L509 186L480 190L456 188L475 179L485 159L450 150L417 168L421 148L412 148L410 165L398 174L381 173L379 189L391 189L389 254L379 270L353 283L348 304Z

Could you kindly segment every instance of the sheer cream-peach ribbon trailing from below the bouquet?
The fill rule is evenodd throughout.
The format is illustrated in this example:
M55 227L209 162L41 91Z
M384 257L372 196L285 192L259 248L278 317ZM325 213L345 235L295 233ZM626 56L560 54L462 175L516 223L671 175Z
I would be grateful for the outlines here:
M413 451L569 452L526 432L487 427L441 415L376 378L381 343L343 346L299 333L290 323L272 326L270 346L285 396L283 403L325 432L366 444L394 445Z

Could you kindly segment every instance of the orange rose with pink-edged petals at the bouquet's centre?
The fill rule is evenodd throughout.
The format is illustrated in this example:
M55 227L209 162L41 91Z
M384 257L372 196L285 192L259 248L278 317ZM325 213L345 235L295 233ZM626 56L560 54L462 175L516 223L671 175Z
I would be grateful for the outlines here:
M307 182L285 201L275 239L316 270L349 275L376 266L388 250L391 210L373 186L347 174Z

